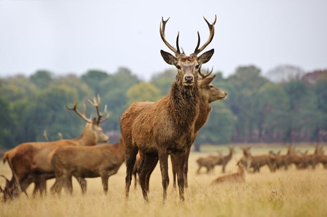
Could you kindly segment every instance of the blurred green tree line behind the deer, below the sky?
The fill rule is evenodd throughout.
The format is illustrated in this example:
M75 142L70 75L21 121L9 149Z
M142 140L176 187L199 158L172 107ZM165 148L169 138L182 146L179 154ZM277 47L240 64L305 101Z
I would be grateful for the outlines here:
M283 69L285 73L285 67L278 68ZM240 66L227 78L219 71L215 74L214 85L228 97L212 102L213 110L196 144L327 141L327 70L281 81L269 80L254 65ZM44 130L50 140L59 139L59 132L66 139L78 137L84 120L65 106L79 101L78 108L83 110L83 101L96 94L101 96L100 109L108 106L110 117L101 126L114 143L124 110L132 102L157 101L166 95L175 75L176 69L167 69L143 81L121 67L114 73L89 70L82 76L38 70L29 77L1 78L0 149L44 141ZM86 114L96 115L96 110L87 105Z

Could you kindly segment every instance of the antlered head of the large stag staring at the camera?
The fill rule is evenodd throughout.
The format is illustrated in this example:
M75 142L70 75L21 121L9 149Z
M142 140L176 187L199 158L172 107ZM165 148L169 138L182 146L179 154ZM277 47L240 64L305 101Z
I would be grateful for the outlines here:
M204 18L204 17L203 17ZM176 49L173 47L170 43L167 42L166 37L165 37L165 28L166 28L166 23L169 20L164 20L162 18L161 23L160 23L160 36L161 39L164 41L164 43L168 46L168 48L174 52L174 55L165 52L165 51L160 51L161 56L164 58L164 60L170 64L174 65L177 68L177 76L176 79L181 82L182 85L184 86L195 86L197 85L198 81L198 71L199 67L201 64L206 63L211 59L211 57L214 54L214 49L209 50L202 55L198 57L198 54L201 53L205 47L212 41L214 34L215 34L215 23L216 23L217 17L215 16L215 21L210 24L205 18L205 22L207 23L209 27L209 38L207 41L199 48L200 46L200 34L198 32L198 43L197 46L192 54L189 56L186 56L184 52L180 52L179 50L179 45L178 45L178 37L179 33L177 34L176 38Z

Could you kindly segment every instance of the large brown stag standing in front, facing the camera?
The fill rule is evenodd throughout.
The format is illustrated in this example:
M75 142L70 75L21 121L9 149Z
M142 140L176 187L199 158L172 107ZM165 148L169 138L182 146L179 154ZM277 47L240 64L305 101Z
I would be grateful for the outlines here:
M176 154L176 168L180 200L184 200L183 166L186 152L194 137L194 125L199 115L200 92L198 87L198 71L201 64L206 63L214 54L214 49L197 56L212 41L214 24L210 24L209 38L199 48L198 44L193 54L186 56L181 53L178 46L178 35L175 49L165 37L167 20L162 18L160 23L160 36L164 43L174 52L175 56L165 51L160 51L164 60L177 68L177 75L170 92L166 97L157 102L133 103L121 116L121 133L125 144L126 159L126 192L128 199L132 172L138 151L143 158L139 166L139 181L142 186L144 200L148 202L146 180L159 160L163 201L167 198L168 155ZM216 20L215 20L216 21Z

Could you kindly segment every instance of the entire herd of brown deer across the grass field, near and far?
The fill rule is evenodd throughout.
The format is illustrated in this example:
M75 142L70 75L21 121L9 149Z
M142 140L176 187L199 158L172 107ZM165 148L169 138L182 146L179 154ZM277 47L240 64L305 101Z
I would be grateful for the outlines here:
M60 194L64 188L72 194L72 177L74 176L81 186L82 193L86 192L85 178L101 177L104 193L108 190L108 178L116 174L120 166L126 163L125 198L129 198L132 176L138 175L145 202L149 202L149 180L159 161L162 180L162 200L167 199L169 185L168 158L170 155L173 186L179 189L179 198L184 201L184 188L188 187L188 161L192 144L199 130L208 120L212 110L211 102L222 100L227 93L216 88L212 81L215 75L210 76L212 70L204 75L201 65L208 62L214 49L201 52L213 40L215 34L215 20L210 23L205 18L209 29L209 36L200 47L200 34L195 50L189 56L179 49L179 33L176 38L176 48L165 37L165 28L168 21L162 18L159 33L162 41L173 52L173 55L160 51L166 63L177 69L175 80L170 92L157 102L134 102L120 118L121 138L118 143L97 144L107 142L109 137L103 132L100 123L108 119L107 107L100 112L101 99L98 95L88 102L96 108L98 117L85 116L77 109L77 103L68 110L75 111L86 122L84 131L75 139L60 139L46 142L25 142L5 152L3 162L7 162L12 178L6 180L6 186L0 186L3 200L16 198L21 192L27 195L26 189L34 183L33 195L46 194L46 180L55 178L51 186L51 194ZM290 164L297 168L307 168L322 163L327 167L327 156L320 147L316 147L313 154L299 154L289 147L285 155L268 153L267 155L251 155L250 148L243 148L243 157L239 159L237 173L218 177L211 184L231 181L245 181L245 171L260 172L260 167L268 165L272 172L282 167L288 169ZM216 165L222 166L222 173L230 162L234 148L229 148L227 155L210 155L199 158L197 173L205 167L207 173L212 173ZM177 177L177 182L176 182ZM135 180L136 183L136 180Z

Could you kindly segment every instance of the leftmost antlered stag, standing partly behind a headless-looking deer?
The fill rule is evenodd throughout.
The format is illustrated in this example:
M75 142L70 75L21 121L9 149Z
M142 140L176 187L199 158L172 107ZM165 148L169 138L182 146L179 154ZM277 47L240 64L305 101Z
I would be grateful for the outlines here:
M21 143L15 148L7 151L3 156L3 162L8 161L11 168L13 177L12 180L8 180L7 190L11 192L11 195L4 195L5 198L12 198L18 195L19 191L26 193L26 188L32 183L35 183L33 194L36 190L45 192L46 180L55 177L52 165L48 162L48 155L51 151L58 147L63 146L95 146L97 142L106 142L109 137L102 131L100 123L104 122L109 116L105 116L107 106L103 113L99 110L100 97L98 95L98 101L94 98L94 102L89 103L96 107L98 118L87 118L85 116L85 104L84 112L81 113L77 110L77 102L73 108L80 117L86 121L84 131L81 136L75 139L60 139L50 142L25 142ZM79 180L82 191L85 191L86 181L84 179Z

